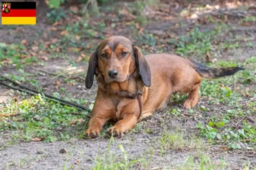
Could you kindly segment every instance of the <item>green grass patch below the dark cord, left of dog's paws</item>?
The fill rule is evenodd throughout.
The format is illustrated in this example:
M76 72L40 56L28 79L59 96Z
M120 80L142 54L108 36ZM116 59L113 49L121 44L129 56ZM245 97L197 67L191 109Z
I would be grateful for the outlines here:
M15 141L44 140L54 142L56 140L68 140L79 138L84 130L86 112L63 106L59 103L44 99L38 94L30 99L20 102L11 101L2 105L5 114L20 114L14 117L0 117L0 132L14 131ZM73 124L76 124L72 127Z

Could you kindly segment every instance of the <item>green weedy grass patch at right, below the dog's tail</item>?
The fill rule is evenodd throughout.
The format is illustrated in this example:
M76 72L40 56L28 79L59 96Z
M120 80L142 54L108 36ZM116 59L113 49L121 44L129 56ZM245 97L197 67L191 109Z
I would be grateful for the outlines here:
M253 144L256 144L256 128L245 118L255 116L256 102L250 100L250 98L255 98L255 89L250 86L256 82L255 77L251 74L252 70L256 68L254 61L255 57L247 59L243 64L247 71L241 71L233 77L202 82L201 96L207 96L204 108L210 105L225 105L222 110L217 109L218 112L211 116L207 123L199 122L196 125L201 135L209 139L210 142L225 143L230 149L241 149L242 147L253 149ZM215 64L215 66L235 65L232 61ZM247 92L245 92L242 89L247 85ZM238 125L239 121L241 123Z

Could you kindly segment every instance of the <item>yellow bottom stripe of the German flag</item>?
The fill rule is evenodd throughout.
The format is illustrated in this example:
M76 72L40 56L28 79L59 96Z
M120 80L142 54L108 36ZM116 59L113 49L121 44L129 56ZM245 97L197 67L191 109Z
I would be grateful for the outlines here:
M36 25L36 17L2 17L2 25Z

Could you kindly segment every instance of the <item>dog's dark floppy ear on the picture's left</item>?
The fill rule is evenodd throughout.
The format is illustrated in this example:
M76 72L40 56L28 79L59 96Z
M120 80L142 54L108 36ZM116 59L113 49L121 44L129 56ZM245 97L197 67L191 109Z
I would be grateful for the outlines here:
M85 87L86 88L92 87L94 75L96 74L97 60L98 59L97 59L96 51L95 51L93 54L90 55L88 71L87 71L87 75L85 78Z

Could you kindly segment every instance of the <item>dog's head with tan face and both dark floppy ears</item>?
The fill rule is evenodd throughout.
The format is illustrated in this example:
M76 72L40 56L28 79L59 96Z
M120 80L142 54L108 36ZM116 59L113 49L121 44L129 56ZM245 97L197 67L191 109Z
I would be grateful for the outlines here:
M140 49L133 46L126 37L108 37L90 55L85 86L91 88L96 74L101 74L108 84L110 82L125 82L136 71L144 85L149 87L151 83L150 68Z

